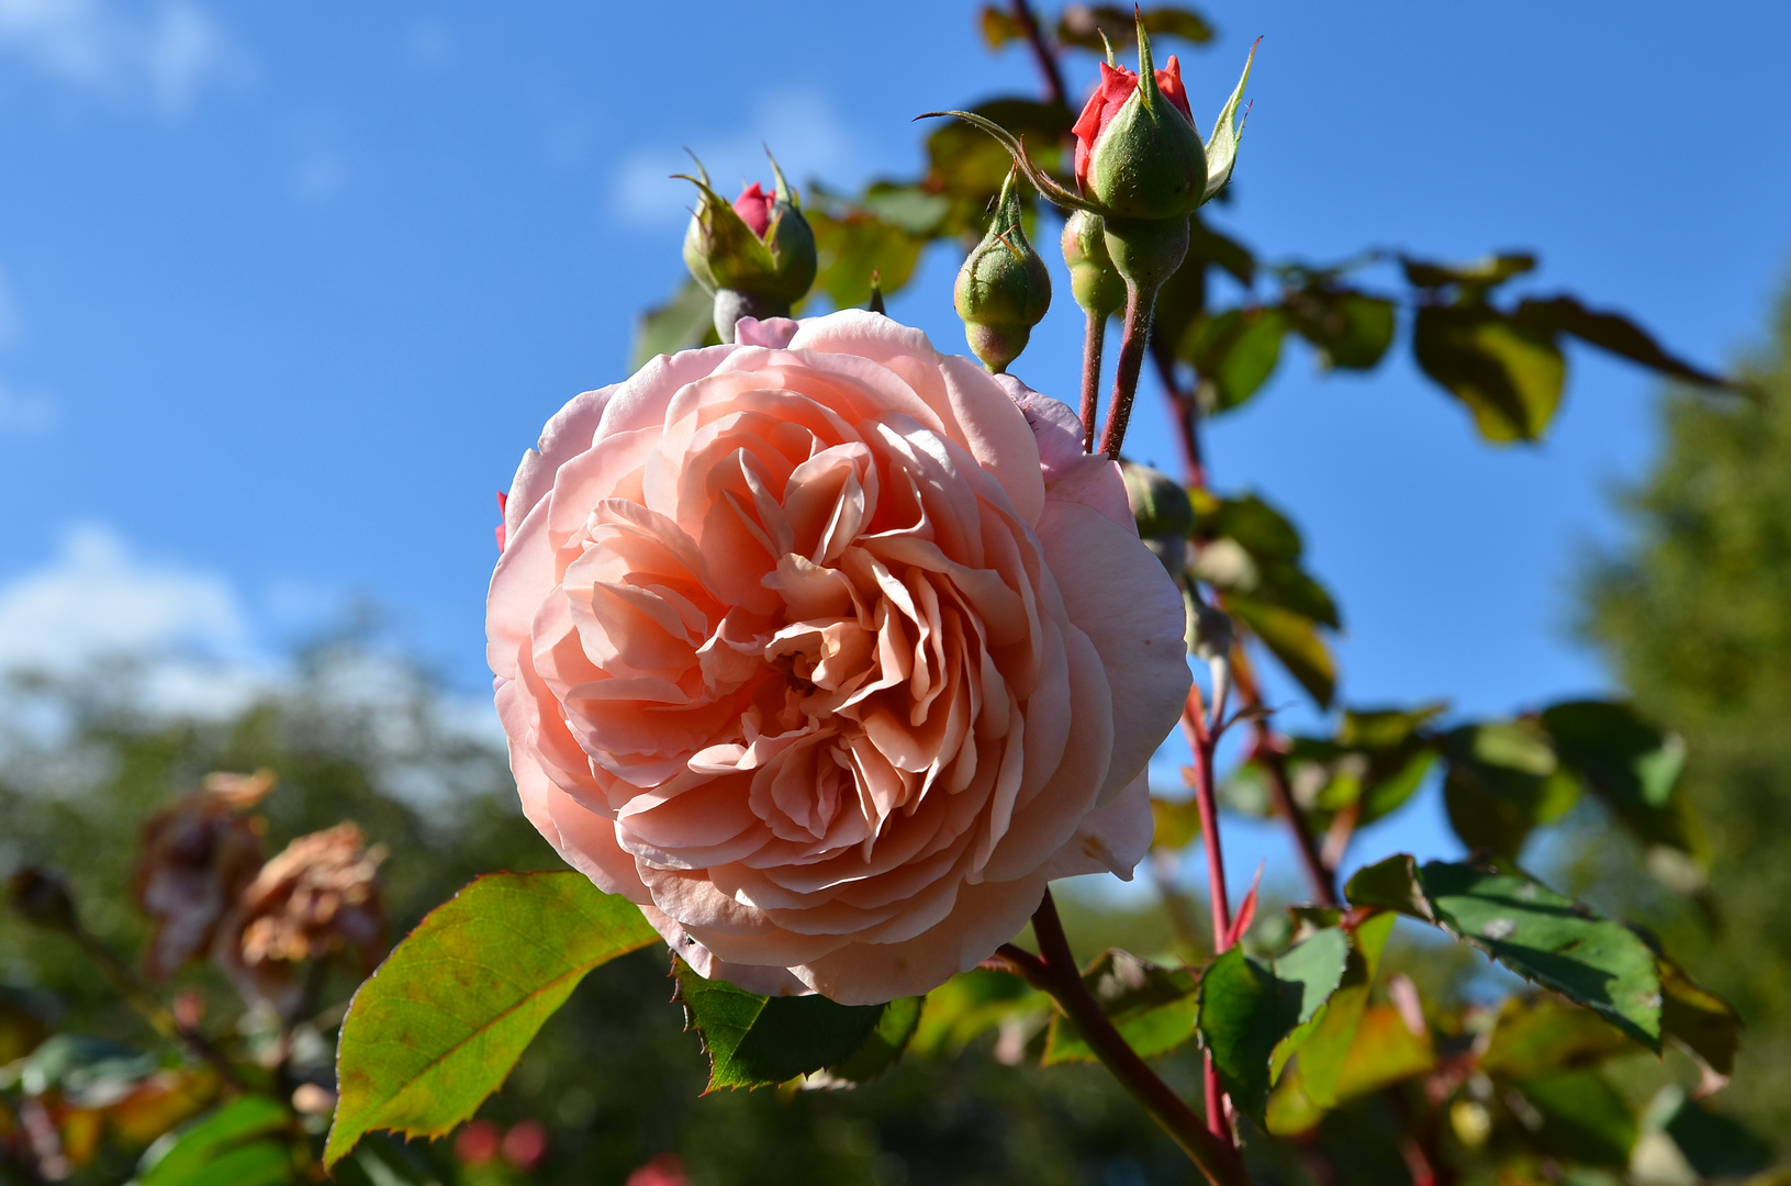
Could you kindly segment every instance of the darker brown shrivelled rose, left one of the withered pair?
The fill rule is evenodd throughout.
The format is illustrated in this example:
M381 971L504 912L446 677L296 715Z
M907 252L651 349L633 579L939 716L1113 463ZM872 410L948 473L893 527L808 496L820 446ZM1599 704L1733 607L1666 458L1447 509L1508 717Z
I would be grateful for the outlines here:
M219 919L261 867L267 821L244 815L274 788L272 770L210 774L143 826L131 878L136 905L156 921L143 967L167 980L201 955Z

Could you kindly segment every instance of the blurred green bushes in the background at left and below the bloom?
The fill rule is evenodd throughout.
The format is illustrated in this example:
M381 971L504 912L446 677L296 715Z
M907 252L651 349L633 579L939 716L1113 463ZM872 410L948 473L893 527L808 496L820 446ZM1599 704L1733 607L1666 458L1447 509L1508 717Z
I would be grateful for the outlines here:
M342 819L360 822L392 855L381 867L396 941L476 874L564 869L516 806L496 738L451 727L467 713L419 672L355 647L308 656L294 679L224 718L152 715L129 670L75 681L14 683L14 722L0 735L0 871L34 862L63 872L82 917L115 951L136 958L149 937L129 898L138 831L210 770L272 769L279 786L261 804L269 851ZM23 722L23 724L20 724ZM476 729L476 726L475 726ZM1094 933L1134 950L1168 946L1153 910L1137 915L1066 908L1078 951ZM908 1057L851 1091L716 1091L672 1003L664 948L600 967L530 1044L482 1116L507 1127L539 1120L548 1154L527 1179L501 1166L457 1166L451 1141L421 1150L439 1179L500 1182L623 1182L650 1157L675 1152L697 1186L813 1182L1180 1182L1182 1154L1100 1066L1037 1066L1044 1034L989 1032L964 1050ZM346 1000L358 980L337 969L322 1000ZM50 1014L64 1034L90 1034L168 1053L90 962L57 933L0 914L0 985L9 1000ZM229 1034L235 993L210 967L177 980L208 1001L208 1028ZM1030 1064L1007 1066L989 1048L1030 1041ZM321 1052L324 1057L328 1050ZM1196 1095L1193 1048L1162 1061ZM75 1182L124 1182L129 1145L107 1143ZM4 1173L4 1172L0 1172Z

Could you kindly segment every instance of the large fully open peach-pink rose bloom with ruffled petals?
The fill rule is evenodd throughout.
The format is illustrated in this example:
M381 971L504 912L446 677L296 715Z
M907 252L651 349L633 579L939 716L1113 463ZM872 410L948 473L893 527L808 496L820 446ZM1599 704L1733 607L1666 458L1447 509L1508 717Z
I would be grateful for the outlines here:
M847 1003L1130 876L1180 595L1075 414L878 314L740 324L523 457L489 661L523 810L698 973Z

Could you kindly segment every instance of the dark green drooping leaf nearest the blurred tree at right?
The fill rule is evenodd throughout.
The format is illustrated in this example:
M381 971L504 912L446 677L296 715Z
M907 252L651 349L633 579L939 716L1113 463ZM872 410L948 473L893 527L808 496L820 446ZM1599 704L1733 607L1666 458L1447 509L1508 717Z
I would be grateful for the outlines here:
M1685 767L1685 743L1632 706L1571 700L1542 709L1542 727L1562 763L1572 767L1639 838L1696 853L1696 824L1673 794Z

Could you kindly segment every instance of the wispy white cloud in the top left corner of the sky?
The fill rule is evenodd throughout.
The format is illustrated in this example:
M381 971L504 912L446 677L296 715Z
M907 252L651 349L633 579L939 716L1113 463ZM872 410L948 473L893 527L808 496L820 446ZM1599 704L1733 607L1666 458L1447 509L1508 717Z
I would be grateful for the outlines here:
M81 91L147 97L179 115L201 86L242 70L242 54L193 0L0 0L0 56Z

